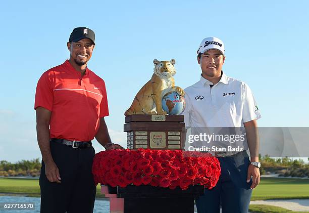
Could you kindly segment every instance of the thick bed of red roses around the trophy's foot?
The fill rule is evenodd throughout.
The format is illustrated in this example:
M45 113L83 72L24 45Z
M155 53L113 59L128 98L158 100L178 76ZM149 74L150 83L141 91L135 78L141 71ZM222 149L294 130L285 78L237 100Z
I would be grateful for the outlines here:
M151 185L185 190L190 185L213 188L221 173L210 154L182 150L109 150L93 159L94 182L113 187Z

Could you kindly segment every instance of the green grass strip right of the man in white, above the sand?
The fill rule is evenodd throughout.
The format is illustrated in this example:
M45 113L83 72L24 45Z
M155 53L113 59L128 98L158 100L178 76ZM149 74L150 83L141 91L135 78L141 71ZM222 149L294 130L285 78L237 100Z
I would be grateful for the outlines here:
M308 179L262 178L251 200L309 199Z

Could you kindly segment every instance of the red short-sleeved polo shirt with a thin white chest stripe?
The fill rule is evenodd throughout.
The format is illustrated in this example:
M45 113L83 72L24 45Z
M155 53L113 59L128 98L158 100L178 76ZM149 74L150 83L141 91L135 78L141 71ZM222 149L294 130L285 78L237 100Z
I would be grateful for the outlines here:
M52 111L50 138L90 141L99 118L109 115L105 82L90 69L83 77L68 60L47 70L38 80L34 109Z

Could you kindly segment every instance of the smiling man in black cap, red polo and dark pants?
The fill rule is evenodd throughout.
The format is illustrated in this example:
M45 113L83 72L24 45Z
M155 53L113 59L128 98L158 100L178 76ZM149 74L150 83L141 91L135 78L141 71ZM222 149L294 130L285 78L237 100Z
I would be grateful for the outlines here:
M35 94L37 140L42 153L41 212L92 212L96 187L91 140L111 142L105 82L87 68L94 32L75 28L67 43L70 59L40 77Z

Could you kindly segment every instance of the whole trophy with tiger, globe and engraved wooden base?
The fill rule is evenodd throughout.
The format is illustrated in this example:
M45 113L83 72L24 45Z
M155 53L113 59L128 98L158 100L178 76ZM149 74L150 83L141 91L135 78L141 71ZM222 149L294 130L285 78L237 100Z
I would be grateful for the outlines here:
M128 149L183 149L185 123L181 113L185 92L175 87L175 60L153 60L151 79L125 112Z

